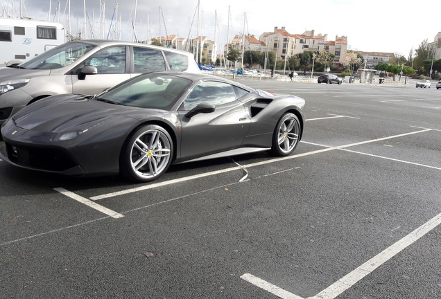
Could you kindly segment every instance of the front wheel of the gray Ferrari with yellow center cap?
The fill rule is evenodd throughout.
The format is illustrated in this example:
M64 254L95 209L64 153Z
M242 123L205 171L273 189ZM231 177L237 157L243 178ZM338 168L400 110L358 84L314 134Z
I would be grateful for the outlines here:
M120 158L120 172L131 181L149 182L167 171L173 160L173 140L163 127L145 125L126 141Z

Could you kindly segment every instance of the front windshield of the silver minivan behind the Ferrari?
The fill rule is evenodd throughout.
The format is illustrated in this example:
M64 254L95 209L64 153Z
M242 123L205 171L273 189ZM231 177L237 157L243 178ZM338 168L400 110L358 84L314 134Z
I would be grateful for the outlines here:
M60 69L85 55L96 46L82 42L62 44L20 64L21 69Z

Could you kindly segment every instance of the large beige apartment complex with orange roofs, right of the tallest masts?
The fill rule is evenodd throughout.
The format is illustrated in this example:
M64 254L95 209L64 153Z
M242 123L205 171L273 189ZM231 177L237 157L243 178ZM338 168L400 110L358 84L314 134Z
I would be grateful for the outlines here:
M334 41L328 41L328 35L315 35L314 30L291 34L285 27L275 27L273 32L262 33L259 40L268 45L268 51L273 51L279 60L304 51L327 51L335 55L336 65L345 62L347 53L347 37L336 36Z

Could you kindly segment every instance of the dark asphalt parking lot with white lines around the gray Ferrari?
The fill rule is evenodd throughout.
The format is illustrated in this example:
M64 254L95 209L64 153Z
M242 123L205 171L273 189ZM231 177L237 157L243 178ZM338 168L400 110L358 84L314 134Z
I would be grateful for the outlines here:
M0 297L439 298L441 91L244 83L306 100L292 156L138 185L0 161Z

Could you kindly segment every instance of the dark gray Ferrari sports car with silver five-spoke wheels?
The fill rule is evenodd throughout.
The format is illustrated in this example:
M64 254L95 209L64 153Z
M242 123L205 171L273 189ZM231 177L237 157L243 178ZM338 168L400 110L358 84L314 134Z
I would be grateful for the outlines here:
M211 75L157 72L96 96L44 98L1 127L0 158L69 176L147 182L171 163L271 150L291 154L305 101Z

